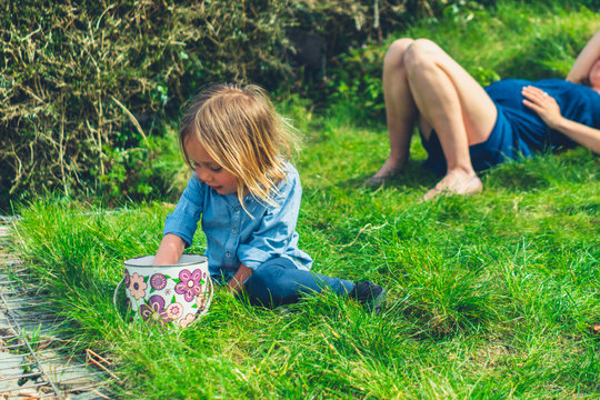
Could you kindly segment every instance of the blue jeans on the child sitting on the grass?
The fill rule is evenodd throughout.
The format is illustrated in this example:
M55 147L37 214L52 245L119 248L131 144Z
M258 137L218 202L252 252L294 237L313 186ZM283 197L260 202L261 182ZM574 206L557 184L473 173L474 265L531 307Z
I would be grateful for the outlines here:
M276 258L261 264L246 282L252 304L278 307L297 302L302 293L320 293L329 289L347 294L354 283L339 278L301 270L287 258Z

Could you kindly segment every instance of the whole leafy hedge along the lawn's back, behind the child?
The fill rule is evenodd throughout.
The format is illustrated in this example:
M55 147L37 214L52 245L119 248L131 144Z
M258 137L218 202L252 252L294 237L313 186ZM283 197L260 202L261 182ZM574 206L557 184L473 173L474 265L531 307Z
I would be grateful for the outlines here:
M320 36L323 56L380 40L462 0L9 0L0 4L0 209L7 199L68 194L163 196L153 172L164 122L214 81L300 88L307 76L290 32ZM314 79L317 78L317 79ZM2 206L3 204L3 206Z

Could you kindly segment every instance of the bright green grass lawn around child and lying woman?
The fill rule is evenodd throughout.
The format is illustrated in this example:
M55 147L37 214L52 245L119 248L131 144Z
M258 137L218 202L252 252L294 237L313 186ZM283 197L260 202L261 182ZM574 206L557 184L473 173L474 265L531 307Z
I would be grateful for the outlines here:
M531 26L517 29L528 19L540 32L591 21L588 11L538 19L520 7L520 17L489 17L511 29L487 38L456 28L474 29L456 51L534 42ZM420 203L437 177L420 167L418 138L404 176L360 189L387 157L384 127L348 110L286 110L307 132L294 160L301 247L317 272L384 284L387 310L371 316L330 293L267 310L218 290L193 328L128 323L112 306L123 260L156 251L171 208L22 206L19 250L78 346L110 351L123 398L600 398L600 338L588 329L600 322L597 157L574 149L507 163L482 176L482 193ZM190 251L203 246L199 233Z

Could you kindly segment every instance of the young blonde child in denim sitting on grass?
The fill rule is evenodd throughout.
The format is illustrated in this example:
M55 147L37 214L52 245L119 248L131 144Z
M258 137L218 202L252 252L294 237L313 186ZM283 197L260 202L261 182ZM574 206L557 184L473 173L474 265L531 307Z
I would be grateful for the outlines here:
M312 259L296 232L300 178L286 161L296 137L261 88L217 84L201 92L181 121L179 143L194 173L167 217L156 264L177 263L201 219L211 277L224 279L233 294L277 307L329 289L381 310L380 286L310 272Z

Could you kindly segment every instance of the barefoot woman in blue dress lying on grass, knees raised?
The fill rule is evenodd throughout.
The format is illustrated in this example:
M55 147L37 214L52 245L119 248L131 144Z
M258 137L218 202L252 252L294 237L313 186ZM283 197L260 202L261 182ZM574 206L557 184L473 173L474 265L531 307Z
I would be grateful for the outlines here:
M444 174L424 200L482 189L476 172L519 156L584 146L600 153L600 30L566 80L506 79L482 88L427 39L394 41L383 61L390 156L364 184L399 174L419 124L424 166Z

